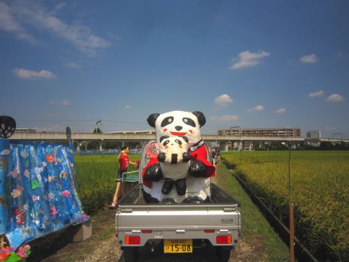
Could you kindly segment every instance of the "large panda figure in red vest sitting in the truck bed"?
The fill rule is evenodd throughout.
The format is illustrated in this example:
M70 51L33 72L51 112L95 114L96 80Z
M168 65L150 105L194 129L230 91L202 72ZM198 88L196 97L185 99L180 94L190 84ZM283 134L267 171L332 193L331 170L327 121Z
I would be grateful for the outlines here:
M142 170L144 199L150 203L164 200L177 203L205 201L209 196L209 179L207 177L212 177L215 174L214 166L207 159L205 143L201 140L200 127L206 123L205 115L198 111L154 113L149 115L147 122L156 129L156 143L158 145L162 145L161 142L166 139L177 138L181 143L186 141L188 151L187 154L183 154L182 159L188 164L188 169L184 180L175 183L176 187L171 185L167 187L166 183L169 183L169 180L165 180L164 177L171 177L171 172L173 172L172 176L175 177L176 167L172 166L172 171L164 169L166 166L162 163L165 161L166 152L150 159ZM182 191L184 188L186 189L185 193Z

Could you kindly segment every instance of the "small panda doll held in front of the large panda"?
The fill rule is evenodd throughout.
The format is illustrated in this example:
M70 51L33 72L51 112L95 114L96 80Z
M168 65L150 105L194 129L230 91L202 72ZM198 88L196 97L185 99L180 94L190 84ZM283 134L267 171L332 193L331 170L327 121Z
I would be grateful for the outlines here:
M162 136L160 143L158 161L165 177L161 192L168 195L175 184L177 194L183 196L186 194L186 175L188 175L191 159L191 155L187 152L188 138Z

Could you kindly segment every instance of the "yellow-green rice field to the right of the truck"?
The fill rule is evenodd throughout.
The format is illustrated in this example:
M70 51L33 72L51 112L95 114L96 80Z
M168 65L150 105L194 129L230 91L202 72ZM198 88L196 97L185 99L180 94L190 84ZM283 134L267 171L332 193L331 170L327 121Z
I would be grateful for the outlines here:
M235 174L285 224L288 203L295 204L297 236L314 254L327 253L336 261L348 261L348 151L292 151L290 180L288 152L223 153L222 157L237 166Z

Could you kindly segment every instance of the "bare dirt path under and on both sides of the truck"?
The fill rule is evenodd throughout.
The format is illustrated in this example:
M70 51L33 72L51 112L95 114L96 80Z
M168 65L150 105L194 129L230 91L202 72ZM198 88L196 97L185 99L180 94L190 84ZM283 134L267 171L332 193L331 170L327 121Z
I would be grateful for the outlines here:
M117 245L114 233L115 210L105 209L91 217L92 236L83 242L71 242L69 231L59 232L55 238L45 238L33 243L33 253L27 259L32 261L123 261L122 251ZM195 254L166 255L161 251L151 252L141 250L138 252L138 261L216 261L216 256L211 249L200 249ZM267 261L262 237L253 235L239 242L230 256L230 261Z

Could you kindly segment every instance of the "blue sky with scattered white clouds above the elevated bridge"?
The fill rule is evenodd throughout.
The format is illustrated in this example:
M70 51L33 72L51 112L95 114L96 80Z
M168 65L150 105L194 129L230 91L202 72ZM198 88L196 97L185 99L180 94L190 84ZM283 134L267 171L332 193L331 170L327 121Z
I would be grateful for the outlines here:
M349 138L348 13L348 1L0 1L0 115L131 131L151 130L153 112L202 111L204 134Z

